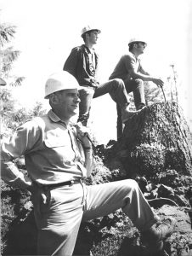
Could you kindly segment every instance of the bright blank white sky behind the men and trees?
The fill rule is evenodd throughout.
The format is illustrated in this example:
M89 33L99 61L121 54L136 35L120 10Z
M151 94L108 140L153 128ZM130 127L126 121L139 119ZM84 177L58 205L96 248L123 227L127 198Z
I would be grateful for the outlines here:
M14 93L22 105L42 101L48 75L62 69L71 49L82 44L82 27L93 24L102 31L95 46L100 82L127 52L129 39L138 36L148 43L141 56L145 70L166 81L175 65L179 103L192 119L191 0L0 0L0 9L0 22L17 26L13 45L21 55L14 73L26 79ZM93 100L90 122L99 143L116 139L110 96Z

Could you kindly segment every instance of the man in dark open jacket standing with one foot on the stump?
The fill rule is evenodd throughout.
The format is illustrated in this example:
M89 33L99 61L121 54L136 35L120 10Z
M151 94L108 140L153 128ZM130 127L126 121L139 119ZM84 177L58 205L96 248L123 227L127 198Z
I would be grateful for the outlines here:
M71 50L71 54L65 61L64 70L71 73L78 81L82 89L79 90L79 121L87 126L92 99L109 93L113 101L121 109L122 121L125 122L133 112L129 111L129 97L125 90L125 85L121 79L111 79L99 84L97 79L98 54L93 48L97 44L101 31L95 26L85 26L82 28L81 36L84 44Z

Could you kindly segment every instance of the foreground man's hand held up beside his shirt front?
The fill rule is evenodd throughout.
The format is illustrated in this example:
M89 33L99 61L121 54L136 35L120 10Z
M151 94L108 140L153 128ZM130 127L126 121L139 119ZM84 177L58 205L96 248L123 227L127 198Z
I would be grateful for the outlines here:
M76 124L76 136L82 142L82 146L85 148L92 148L92 143L88 134L88 128L83 126L81 122Z

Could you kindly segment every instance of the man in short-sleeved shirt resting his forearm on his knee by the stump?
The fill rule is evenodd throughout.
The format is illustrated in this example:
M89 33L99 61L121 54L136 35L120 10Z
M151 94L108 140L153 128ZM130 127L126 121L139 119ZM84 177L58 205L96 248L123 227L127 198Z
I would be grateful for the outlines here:
M146 46L146 42L141 38L132 38L128 43L129 52L121 56L120 61L118 61L113 73L110 75L110 79L122 79L124 81L127 93L133 91L137 110L145 107L144 81L152 81L160 86L164 84L161 79L151 76L150 73L144 71L138 59L138 56L144 53ZM117 112L118 116L121 115L120 109Z

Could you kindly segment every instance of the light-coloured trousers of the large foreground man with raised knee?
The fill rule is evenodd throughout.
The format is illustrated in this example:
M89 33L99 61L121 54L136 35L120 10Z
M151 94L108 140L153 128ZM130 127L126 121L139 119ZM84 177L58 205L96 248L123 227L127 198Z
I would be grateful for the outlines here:
M39 197L39 206L34 206L38 255L71 256L81 222L119 208L138 230L147 230L158 220L132 179L91 186L76 183L46 193L47 204L41 203Z

